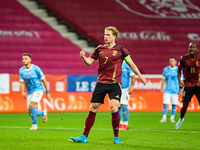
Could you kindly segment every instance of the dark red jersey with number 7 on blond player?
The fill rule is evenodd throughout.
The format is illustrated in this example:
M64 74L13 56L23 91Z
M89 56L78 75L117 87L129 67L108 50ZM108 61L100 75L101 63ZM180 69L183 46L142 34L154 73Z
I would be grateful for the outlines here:
M99 45L90 55L92 59L99 61L97 82L112 84L121 83L122 62L129 52L121 45L108 48L106 45Z

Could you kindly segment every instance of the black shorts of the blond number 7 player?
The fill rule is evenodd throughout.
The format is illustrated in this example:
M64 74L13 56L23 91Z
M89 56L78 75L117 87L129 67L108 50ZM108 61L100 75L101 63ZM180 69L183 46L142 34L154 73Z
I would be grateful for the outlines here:
M103 104L107 93L110 99L116 99L120 101L121 85L119 83L104 84L97 82L90 102Z

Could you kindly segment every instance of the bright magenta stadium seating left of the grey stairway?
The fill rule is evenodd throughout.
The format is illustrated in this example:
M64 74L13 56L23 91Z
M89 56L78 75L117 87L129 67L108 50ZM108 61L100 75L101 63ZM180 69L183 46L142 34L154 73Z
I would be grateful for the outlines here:
M45 74L97 74L87 67L80 47L31 14L16 0L0 0L0 73L18 74L23 53Z

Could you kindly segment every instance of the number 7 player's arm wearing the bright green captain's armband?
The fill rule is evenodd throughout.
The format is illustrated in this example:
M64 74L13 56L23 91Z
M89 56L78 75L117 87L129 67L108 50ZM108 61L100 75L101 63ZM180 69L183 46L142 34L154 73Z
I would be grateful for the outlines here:
M129 65L129 67L131 68L131 70L138 75L140 82L142 82L144 85L146 84L146 78L142 76L142 74L140 73L139 69L137 68L137 66L135 65L135 63L132 61L130 55L126 56L124 58L124 60L126 61L126 63Z

